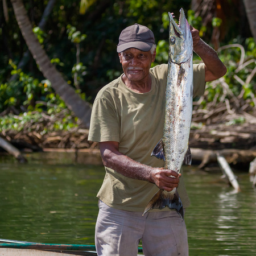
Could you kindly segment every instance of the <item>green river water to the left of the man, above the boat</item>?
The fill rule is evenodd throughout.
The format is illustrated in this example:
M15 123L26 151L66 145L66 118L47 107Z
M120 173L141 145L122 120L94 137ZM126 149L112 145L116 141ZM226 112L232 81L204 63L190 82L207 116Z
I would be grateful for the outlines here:
M1 238L94 242L96 193L104 169L74 163L67 154L53 155L33 154L28 164L1 164Z

